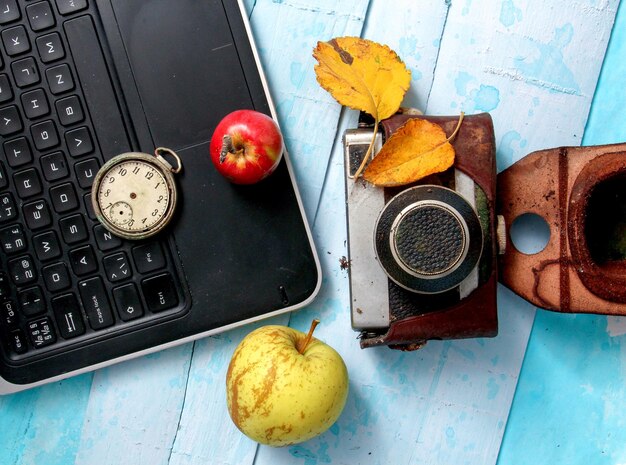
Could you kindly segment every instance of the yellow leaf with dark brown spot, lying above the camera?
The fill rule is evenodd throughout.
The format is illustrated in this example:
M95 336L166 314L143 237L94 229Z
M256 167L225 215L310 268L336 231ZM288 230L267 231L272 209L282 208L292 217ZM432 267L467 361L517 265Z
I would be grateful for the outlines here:
M411 73L386 45L358 37L318 42L319 84L340 104L369 113L376 121L393 115L409 88Z

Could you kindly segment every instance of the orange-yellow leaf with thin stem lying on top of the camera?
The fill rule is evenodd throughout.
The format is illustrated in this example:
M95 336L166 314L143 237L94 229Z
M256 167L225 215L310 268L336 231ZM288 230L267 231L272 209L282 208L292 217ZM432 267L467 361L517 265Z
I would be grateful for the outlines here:
M454 147L443 128L421 118L412 118L385 142L363 178L377 186L402 186L445 171L453 163Z

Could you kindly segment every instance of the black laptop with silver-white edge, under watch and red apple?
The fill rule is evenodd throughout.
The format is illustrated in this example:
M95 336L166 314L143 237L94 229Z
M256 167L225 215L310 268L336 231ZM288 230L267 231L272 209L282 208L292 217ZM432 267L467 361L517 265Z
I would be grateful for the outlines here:
M0 0L0 41L0 394L314 298L286 154L250 186L208 154L231 111L274 115L241 1ZM116 237L91 207L93 177L161 146L182 160L175 216L151 238Z

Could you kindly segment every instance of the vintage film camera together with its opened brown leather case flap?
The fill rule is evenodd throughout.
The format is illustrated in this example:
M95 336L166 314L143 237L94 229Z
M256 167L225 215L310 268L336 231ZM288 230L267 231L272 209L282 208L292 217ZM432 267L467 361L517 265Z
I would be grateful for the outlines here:
M344 134L350 304L361 347L495 336L498 277L547 310L626 316L626 144L540 150L496 176L491 117L479 114L465 117L447 171L394 189L355 182L374 131L376 153L412 117L448 135L458 122L397 114L374 128L362 116ZM507 245L528 214L549 230L533 253Z

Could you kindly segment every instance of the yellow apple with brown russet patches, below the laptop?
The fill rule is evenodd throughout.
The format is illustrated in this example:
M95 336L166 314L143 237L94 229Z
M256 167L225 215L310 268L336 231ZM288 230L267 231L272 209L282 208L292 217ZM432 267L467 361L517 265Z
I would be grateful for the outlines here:
M239 344L226 375L228 412L251 439L287 446L323 433L348 397L348 370L341 356L308 334L264 326Z

